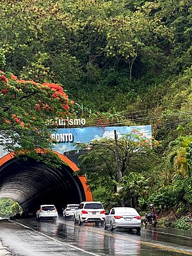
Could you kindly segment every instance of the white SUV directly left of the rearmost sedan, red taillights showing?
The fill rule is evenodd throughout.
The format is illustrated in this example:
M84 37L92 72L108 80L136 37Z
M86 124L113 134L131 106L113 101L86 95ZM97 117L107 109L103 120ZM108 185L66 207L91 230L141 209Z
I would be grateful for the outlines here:
M103 223L105 213L101 202L81 202L74 214L74 223L79 226L83 222Z

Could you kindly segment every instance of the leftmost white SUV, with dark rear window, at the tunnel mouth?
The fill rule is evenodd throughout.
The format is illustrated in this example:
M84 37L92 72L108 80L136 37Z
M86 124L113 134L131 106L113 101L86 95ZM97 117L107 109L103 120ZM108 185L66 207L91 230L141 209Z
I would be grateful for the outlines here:
M52 204L40 205L40 209L36 212L36 220L52 220L56 221L58 218L58 211Z

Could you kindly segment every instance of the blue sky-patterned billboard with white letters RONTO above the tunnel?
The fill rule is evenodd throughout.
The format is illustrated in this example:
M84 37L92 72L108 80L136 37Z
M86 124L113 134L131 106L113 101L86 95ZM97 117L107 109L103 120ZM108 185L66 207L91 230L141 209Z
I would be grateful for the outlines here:
M95 139L114 138L114 130L118 138L132 131L134 134L140 132L143 138L152 137L151 125L63 128L51 134L51 137L58 142L53 149L63 154L75 149L73 143L90 143Z

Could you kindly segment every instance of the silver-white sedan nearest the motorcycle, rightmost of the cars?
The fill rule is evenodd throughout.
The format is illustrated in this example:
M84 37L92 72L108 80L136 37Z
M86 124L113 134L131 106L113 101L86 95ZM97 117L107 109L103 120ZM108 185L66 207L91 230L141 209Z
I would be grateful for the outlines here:
M131 207L113 207L104 218L104 228L136 228L141 230L141 216L136 209Z

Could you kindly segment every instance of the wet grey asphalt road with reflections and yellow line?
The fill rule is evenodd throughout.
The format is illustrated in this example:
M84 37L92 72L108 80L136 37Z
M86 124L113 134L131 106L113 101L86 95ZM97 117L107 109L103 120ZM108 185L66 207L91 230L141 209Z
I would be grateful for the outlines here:
M17 256L176 256L192 255L192 232L146 227L113 232L92 223L36 222L35 218L0 221L0 237ZM0 255L1 251L0 251Z

